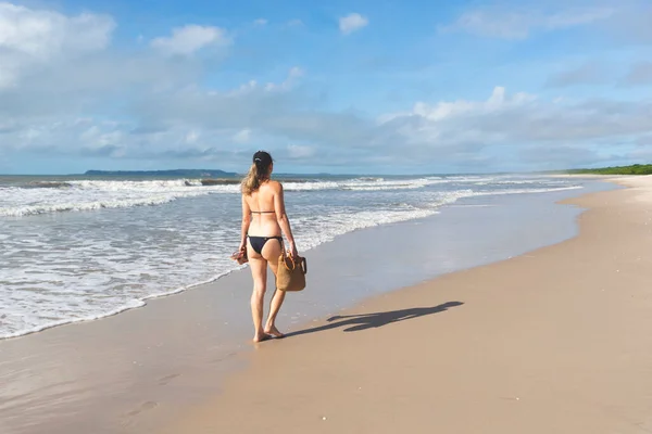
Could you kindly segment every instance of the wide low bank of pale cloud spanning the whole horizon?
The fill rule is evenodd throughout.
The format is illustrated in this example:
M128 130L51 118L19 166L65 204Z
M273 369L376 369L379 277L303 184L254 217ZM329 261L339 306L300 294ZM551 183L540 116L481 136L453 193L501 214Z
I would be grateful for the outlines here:
M374 123L305 104L297 89L280 84L273 91L255 82L243 88L146 93L131 104L129 122L67 117L55 110L38 118L3 118L0 149L224 162L252 151L255 130L273 153L324 167L387 164L416 170L436 156L437 164L465 169L502 169L507 163L553 168L592 164L601 146L611 146L614 155L629 152L627 143L652 135L652 102L645 100L549 101L496 87L486 100L417 102ZM231 150L234 142L242 146ZM500 153L509 157L496 161ZM318 163L315 155L323 156Z

